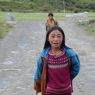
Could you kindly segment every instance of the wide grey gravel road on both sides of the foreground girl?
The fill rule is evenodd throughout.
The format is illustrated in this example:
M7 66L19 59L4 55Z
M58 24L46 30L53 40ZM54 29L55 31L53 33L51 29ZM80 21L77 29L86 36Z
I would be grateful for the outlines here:
M17 22L0 41L0 95L35 95L33 75L36 56L45 39L45 22ZM77 27L72 19L59 22L66 43L80 55L81 71L74 80L73 95L94 95L95 39Z

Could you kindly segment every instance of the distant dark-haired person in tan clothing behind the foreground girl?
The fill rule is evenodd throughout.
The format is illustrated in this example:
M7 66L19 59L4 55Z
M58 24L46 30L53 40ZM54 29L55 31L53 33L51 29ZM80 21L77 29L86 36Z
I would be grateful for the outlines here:
M57 21L55 21L55 19L53 18L53 13L49 13L48 14L48 19L46 22L46 31L48 31L50 28L57 26L58 23Z

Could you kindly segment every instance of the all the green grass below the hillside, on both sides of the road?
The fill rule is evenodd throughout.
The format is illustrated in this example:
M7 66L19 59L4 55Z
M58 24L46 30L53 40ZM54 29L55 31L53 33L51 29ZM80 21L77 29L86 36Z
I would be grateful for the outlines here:
M48 13L10 13L16 21L46 21ZM89 20L95 20L95 13L89 13ZM8 17L8 12L0 12L0 37L5 35L6 31L10 31L11 26L6 24ZM54 13L54 18L56 20L64 20L64 13ZM2 27L3 26L3 27ZM95 34L95 23L89 23L82 25L82 27L89 31L91 34Z

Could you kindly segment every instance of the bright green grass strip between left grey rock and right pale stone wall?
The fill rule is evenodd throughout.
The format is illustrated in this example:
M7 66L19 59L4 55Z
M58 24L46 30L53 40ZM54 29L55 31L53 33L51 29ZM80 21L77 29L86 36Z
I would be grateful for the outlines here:
M42 21L43 20L44 21L47 19L48 13L13 13L13 15L16 18L16 20L19 20L19 21L20 20L28 20L28 21L31 21L31 20ZM55 13L54 17L57 20L63 20L64 15L63 13Z

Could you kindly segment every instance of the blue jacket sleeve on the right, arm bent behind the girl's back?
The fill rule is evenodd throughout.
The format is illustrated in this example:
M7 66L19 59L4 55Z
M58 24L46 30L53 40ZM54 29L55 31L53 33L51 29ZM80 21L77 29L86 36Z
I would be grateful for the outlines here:
M78 55L72 57L71 59L71 78L74 79L80 70L80 60Z

